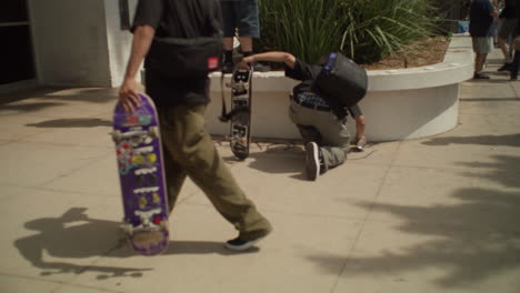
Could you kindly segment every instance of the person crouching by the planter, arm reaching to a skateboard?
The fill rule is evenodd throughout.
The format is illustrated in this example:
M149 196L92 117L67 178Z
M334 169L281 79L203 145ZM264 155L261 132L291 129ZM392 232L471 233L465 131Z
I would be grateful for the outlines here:
M331 104L312 91L312 84L322 70L321 65L308 64L293 54L281 51L246 57L242 64L256 61L283 62L286 77L302 81L291 93L289 117L306 142L306 172L309 180L317 180L320 174L347 160L350 149L347 111L362 122L362 127L358 127L356 143L360 144L360 149L364 146L364 117L359 107L347 109L340 104Z

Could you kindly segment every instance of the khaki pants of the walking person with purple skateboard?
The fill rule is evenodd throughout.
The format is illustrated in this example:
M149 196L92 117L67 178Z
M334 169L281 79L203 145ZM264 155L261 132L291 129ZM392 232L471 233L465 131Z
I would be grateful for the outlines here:
M170 211L189 176L242 240L267 234L269 221L246 198L206 132L204 111L206 104L158 109Z

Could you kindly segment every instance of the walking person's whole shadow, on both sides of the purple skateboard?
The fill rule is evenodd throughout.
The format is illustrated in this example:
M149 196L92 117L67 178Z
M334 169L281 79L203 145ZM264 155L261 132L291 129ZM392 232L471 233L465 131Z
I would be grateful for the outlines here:
M42 276L52 274L99 273L97 279L140 277L151 267L116 267L93 265L92 261L80 260L89 257L131 257L139 255L127 244L120 230L120 223L107 220L91 219L86 214L86 208L71 208L57 218L42 218L24 224L37 234L20 238L14 246L33 266L42 270ZM258 249L248 251L256 252ZM220 242L171 241L163 254L232 254ZM156 256L158 257L158 256ZM159 256L160 257L160 256ZM67 261L49 261L63 259Z

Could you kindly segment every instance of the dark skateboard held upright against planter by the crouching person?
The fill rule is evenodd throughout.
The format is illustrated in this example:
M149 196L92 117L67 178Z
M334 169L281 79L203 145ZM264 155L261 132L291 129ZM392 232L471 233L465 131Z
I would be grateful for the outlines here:
M251 142L252 73L251 68L237 68L227 84L231 88L231 151L240 160L248 158Z

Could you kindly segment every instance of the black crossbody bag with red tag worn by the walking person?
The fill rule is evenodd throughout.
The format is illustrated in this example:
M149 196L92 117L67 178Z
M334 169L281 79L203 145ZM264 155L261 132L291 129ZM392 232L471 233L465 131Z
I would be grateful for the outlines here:
M147 68L168 78L206 77L220 68L222 28L220 20L213 17L216 0L209 2L213 36L189 39L154 37L147 55Z

